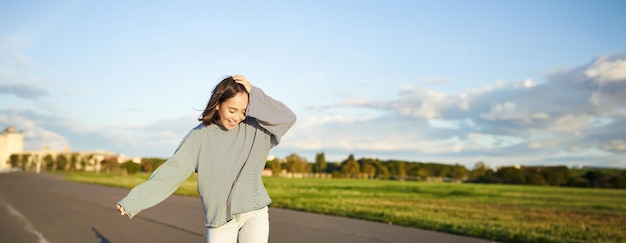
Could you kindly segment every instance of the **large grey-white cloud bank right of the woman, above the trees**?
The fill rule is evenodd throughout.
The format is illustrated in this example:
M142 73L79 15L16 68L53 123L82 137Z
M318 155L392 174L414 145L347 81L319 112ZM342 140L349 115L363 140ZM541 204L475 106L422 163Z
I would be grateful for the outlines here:
M528 163L614 164L610 161L618 161L617 153L625 146L615 136L623 130L618 127L626 124L626 102L620 102L626 82L614 82L621 70L600 68L607 60L613 63L610 67L621 68L615 61L621 60L615 58L619 54L609 56L612 59L599 58L587 66L553 73L542 83L498 81L458 95L406 86L396 99L353 97L343 107L393 112L358 121L348 117L303 121L291 133L294 142L289 146L346 154L458 155L466 161L482 156ZM602 72L585 74L594 68ZM594 85L602 79L613 81ZM600 103L591 102L594 94L600 95Z

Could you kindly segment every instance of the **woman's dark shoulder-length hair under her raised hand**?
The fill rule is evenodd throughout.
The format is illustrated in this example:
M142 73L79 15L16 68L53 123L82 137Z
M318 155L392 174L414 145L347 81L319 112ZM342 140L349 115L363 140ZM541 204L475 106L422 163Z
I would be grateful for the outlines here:
M206 108L202 112L202 115L198 118L205 126L216 123L219 120L219 113L215 110L220 103L227 99L234 97L237 93L246 91L246 87L243 84L237 83L232 76L224 78L220 83L215 86L213 92L211 92L211 99L206 105Z

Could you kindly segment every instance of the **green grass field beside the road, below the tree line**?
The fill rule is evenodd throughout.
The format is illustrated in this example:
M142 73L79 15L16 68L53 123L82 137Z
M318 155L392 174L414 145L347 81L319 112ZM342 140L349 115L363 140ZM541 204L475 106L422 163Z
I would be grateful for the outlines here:
M148 175L68 173L130 188ZM176 192L197 196L195 175ZM273 207L504 242L626 242L626 190L264 177Z

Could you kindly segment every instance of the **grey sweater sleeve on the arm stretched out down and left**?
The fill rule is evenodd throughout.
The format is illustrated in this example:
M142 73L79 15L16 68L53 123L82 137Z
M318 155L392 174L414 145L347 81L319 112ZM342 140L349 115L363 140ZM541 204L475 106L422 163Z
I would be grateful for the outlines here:
M118 202L129 218L167 199L196 169L199 136L192 130L172 157Z

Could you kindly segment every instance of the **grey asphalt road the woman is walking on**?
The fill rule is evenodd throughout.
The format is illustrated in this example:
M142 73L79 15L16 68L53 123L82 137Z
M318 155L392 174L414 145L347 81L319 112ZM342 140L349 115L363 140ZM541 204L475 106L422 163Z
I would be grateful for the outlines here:
M0 242L204 242L200 200L171 196L129 220L128 189L42 173L0 173ZM270 242L490 242L408 227L270 207Z

